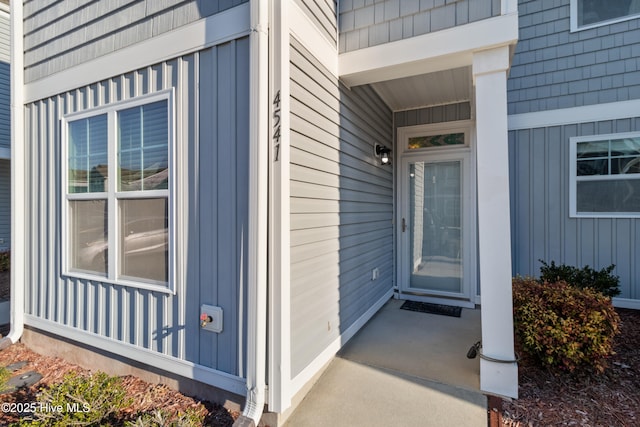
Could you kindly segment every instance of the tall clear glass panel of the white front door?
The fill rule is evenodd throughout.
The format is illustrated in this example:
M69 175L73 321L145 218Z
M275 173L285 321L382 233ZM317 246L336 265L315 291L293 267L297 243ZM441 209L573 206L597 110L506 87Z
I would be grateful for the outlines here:
M462 161L409 163L409 193L409 288L462 293Z

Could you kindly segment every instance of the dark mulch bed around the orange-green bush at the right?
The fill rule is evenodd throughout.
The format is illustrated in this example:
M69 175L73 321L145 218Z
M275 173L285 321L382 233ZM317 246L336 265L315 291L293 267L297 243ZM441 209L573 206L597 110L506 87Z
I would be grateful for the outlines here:
M640 425L640 311L616 310L621 333L603 374L556 374L524 359L519 398L489 400L491 427Z

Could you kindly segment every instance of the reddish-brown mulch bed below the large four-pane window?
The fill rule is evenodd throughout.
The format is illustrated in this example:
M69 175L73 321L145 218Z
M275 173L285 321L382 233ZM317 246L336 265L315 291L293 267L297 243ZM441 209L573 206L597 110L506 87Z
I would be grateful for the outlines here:
M60 358L42 356L29 350L23 344L14 344L0 351L0 366L8 366L19 361L28 361L24 368L14 375L27 371L42 374L42 380L34 386L13 393L0 395L3 403L32 403L36 402L38 390L48 384L61 382L65 374L70 371L88 374L89 371L79 366L65 362ZM117 415L117 420L111 426L122 426L126 421L135 421L141 413L151 413L154 409L162 409L168 413L185 412L191 408L205 416L206 426L231 426L238 413L230 413L224 407L185 396L162 384L149 384L139 378L128 375L123 377L123 386L133 403ZM17 422L16 413L0 411L0 425Z

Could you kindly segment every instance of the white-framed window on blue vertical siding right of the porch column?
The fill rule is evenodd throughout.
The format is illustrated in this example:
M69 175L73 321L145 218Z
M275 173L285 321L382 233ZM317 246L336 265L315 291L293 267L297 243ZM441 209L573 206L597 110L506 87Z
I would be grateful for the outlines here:
M640 133L571 138L571 214L640 215Z

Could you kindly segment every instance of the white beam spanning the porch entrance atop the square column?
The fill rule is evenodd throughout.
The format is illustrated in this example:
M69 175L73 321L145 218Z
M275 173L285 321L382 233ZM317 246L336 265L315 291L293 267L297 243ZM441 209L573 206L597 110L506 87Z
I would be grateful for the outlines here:
M516 12L343 53L338 70L348 86L375 83L468 66L474 52L517 40Z

